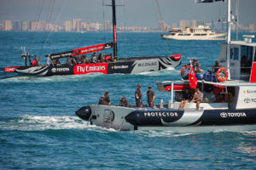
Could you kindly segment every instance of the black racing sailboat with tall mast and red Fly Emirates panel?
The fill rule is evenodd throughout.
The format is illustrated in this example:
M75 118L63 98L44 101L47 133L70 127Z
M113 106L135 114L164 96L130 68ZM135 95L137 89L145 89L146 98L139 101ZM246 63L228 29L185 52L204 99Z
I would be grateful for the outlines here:
M48 65L32 65L31 62L27 64L28 59L31 61L30 56L28 54L21 54L21 57L24 59L24 65L6 67L4 71L33 76L82 75L94 72L103 74L137 74L146 71L160 71L170 67L175 68L181 64L181 54L119 58L115 0L112 0L111 6L113 12L113 42L45 55L50 61ZM105 59L95 59L95 61L91 59L89 62L83 62L83 59L76 60L79 55L95 53L108 48L113 48L113 56L105 56ZM62 58L70 59L71 62L69 64L68 62L61 64L59 59Z

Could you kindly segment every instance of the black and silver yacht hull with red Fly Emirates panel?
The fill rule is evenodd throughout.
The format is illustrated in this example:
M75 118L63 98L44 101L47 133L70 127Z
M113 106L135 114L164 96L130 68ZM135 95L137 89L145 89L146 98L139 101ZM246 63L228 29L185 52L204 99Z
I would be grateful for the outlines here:
M82 75L93 72L103 74L137 74L145 71L160 71L181 64L181 55L167 57L140 57L119 59L115 62L79 65L20 66L15 72L34 76Z

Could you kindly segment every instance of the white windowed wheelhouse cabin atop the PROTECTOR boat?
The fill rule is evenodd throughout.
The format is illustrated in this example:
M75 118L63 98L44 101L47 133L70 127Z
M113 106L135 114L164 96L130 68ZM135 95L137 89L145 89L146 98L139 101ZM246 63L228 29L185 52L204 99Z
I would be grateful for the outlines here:
M229 59L227 59L227 44L220 44L218 61L220 65L226 67L227 61L230 60L231 80L256 82L256 42L252 42L254 36L244 35L243 37L243 41L230 42Z

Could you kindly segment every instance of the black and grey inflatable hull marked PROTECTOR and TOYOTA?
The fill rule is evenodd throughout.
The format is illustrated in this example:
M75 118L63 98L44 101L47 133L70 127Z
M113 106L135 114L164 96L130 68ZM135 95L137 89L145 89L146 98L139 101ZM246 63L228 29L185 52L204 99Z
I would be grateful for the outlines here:
M99 127L118 130L167 129L178 131L186 127L187 133L210 132L215 127L231 131L256 130L256 109L242 110L173 110L131 108L114 105L89 105L76 114ZM196 130L195 130L196 129Z

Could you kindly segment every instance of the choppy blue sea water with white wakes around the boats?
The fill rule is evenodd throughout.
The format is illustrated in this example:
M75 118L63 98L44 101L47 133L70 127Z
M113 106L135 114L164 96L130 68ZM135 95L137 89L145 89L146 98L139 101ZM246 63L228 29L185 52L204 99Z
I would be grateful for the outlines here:
M118 39L119 57L182 54L183 64L196 58L201 65L214 64L223 42L166 41L160 33L119 33ZM179 80L183 64L137 75L25 77L3 72L6 66L23 65L21 46L44 64L45 54L111 41L112 33L0 32L0 169L256 168L256 132L119 132L75 115L107 90L112 104L122 96L135 103L138 83L143 103L151 85L155 103L163 99L166 104L171 96L158 92L155 82Z

